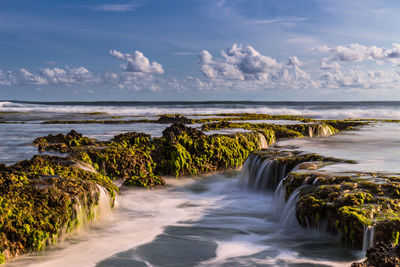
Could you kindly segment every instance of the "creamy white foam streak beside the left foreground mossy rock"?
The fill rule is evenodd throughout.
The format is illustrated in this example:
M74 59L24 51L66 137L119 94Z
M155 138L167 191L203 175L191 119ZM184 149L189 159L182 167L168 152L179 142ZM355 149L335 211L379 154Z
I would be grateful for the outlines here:
M118 252L151 242L168 225L198 219L215 201L204 199L182 208L188 202L185 194L170 190L125 191L113 217L103 225L67 238L58 249L24 256L6 266L95 266ZM104 215L102 208L99 212Z

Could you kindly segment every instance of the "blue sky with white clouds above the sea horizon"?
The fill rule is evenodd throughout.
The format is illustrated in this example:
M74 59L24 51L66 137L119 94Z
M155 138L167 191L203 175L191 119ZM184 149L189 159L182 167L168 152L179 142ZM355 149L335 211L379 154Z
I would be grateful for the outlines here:
M400 100L400 1L2 0L0 99Z

